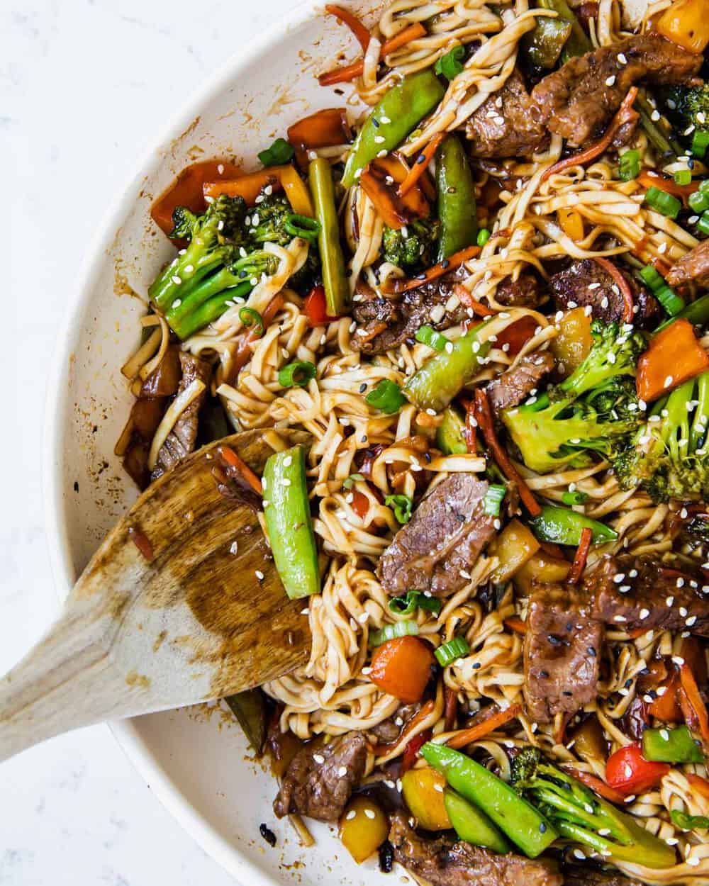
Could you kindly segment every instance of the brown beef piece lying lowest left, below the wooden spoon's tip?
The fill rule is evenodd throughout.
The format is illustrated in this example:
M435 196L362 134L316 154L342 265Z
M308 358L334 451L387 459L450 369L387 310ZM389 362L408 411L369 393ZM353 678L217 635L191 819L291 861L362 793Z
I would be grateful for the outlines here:
M323 746L308 744L292 758L273 804L278 818L299 812L319 821L337 821L362 780L367 742L348 732Z

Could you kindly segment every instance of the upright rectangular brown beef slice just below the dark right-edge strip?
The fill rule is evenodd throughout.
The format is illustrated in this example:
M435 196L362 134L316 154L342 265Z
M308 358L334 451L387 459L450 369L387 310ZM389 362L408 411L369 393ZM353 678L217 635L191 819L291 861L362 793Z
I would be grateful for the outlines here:
M603 625L586 595L541 585L529 598L524 644L526 710L537 723L575 713L598 695Z

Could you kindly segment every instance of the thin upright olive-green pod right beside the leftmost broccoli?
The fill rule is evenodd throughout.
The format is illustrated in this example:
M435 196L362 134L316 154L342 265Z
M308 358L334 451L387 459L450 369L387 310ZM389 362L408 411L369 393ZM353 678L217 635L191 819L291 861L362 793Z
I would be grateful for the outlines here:
M308 170L310 193L320 225L317 245L323 266L323 287L327 314L339 317L347 312L350 292L345 276L345 259L339 241L338 210L335 205L335 189L332 184L330 163L323 157L310 161Z

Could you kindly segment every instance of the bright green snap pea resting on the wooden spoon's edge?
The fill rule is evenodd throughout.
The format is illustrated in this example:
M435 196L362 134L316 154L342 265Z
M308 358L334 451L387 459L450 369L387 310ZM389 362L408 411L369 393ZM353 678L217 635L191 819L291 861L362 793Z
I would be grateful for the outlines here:
M305 450L296 446L271 455L263 469L263 515L285 593L320 593L316 537L305 478Z

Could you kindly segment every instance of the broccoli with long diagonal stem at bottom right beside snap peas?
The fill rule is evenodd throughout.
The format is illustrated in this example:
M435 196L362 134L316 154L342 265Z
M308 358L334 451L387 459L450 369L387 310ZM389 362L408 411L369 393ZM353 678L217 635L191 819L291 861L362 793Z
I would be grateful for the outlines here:
M551 766L538 748L525 748L512 760L512 785L544 815L559 834L604 858L671 867L675 851L594 791Z

